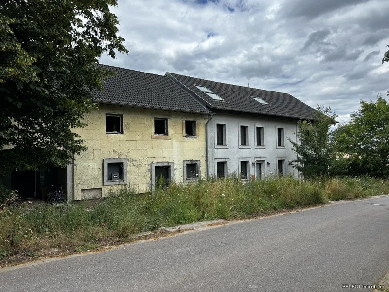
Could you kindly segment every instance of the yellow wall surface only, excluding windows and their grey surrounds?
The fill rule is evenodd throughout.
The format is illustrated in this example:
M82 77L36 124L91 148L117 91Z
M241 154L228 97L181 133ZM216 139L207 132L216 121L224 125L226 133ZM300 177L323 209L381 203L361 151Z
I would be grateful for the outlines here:
M123 134L106 134L106 113L123 115ZM168 140L153 139L154 118L168 118ZM197 121L197 136L183 136L183 120ZM85 121L88 126L74 129L85 140L86 152L74 162L74 200L82 200L82 189L102 188L105 197L110 188L103 186L103 159L128 159L128 184L138 193L150 188L151 162L174 162L174 178L183 181L183 160L200 160L201 177L206 176L205 124L207 115L164 110L100 105Z

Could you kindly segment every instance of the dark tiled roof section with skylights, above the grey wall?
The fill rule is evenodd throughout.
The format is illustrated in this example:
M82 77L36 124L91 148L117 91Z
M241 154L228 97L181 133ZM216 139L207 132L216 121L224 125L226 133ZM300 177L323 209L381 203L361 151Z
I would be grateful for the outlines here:
M226 84L175 73L168 74L176 78L185 87L205 100L213 109L243 111L297 119L315 118L316 110L288 93ZM205 86L223 98L224 101L212 99L207 94L195 87L195 85ZM266 101L268 105L261 104L254 100L252 97L259 97Z

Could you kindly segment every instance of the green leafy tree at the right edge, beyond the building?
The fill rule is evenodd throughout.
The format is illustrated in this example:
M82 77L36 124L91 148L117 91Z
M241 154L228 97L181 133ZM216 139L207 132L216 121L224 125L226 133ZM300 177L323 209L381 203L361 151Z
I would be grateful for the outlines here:
M336 130L336 146L347 153L353 175L389 175L389 101L378 96L376 101L361 101L351 121Z

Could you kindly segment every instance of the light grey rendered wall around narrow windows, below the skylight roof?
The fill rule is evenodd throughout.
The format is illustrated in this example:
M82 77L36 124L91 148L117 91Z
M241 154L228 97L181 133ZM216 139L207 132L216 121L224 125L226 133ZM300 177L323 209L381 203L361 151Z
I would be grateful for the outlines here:
M216 124L226 124L227 146L217 146ZM241 125L248 125L249 146L240 145ZM265 146L256 146L256 126L264 127ZM284 128L284 147L277 146L277 128ZM216 176L217 161L227 161L227 172L239 174L241 160L249 160L250 175L257 177L256 162L260 160L264 162L263 175L272 175L277 173L277 160L285 159L284 174L298 177L297 170L288 164L290 160L296 158L296 155L287 137L296 141L296 132L296 121L216 113L207 125L209 175ZM267 162L270 164L268 165Z

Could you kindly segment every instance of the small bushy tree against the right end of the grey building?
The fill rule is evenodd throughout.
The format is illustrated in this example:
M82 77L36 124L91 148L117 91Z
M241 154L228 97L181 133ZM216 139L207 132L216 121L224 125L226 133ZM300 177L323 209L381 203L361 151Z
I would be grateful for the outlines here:
M336 114L329 107L318 106L314 121L298 122L297 141L288 138L297 158L292 160L293 168L306 178L328 176L343 169L334 146L331 126Z

